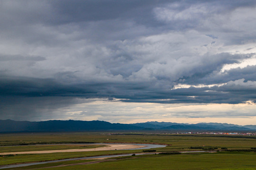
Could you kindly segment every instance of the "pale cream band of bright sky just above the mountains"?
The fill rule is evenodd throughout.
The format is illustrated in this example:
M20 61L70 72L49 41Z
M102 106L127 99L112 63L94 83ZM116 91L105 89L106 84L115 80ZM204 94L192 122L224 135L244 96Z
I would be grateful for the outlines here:
M96 100L54 110L49 119L104 120L111 123L165 121L176 123L217 122L255 124L256 104L163 104ZM50 118L51 117L51 118ZM45 119L48 120L48 119Z

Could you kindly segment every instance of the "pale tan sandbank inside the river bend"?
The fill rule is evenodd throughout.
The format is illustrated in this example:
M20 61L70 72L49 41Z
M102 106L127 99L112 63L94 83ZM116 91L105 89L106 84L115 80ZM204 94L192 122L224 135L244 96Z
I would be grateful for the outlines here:
M110 151L110 150L122 150L122 149L135 149L142 148L144 146L134 144L106 144L108 146L91 148L91 149L65 149L65 150L50 150L50 151L27 151L27 152L9 152L0 153L0 155L8 154L35 154L35 153L64 153L64 152L87 152L87 151Z

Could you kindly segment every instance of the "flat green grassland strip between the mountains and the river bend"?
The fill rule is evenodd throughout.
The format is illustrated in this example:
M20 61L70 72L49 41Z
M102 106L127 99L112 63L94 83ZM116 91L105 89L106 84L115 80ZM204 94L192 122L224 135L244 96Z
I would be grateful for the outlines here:
M108 139L108 140L107 140ZM256 145L256 136L190 136L136 134L125 135L109 133L28 133L0 134L0 145L23 144L64 144L64 143L159 143L172 144L172 148L191 146L219 146L231 148L248 148Z

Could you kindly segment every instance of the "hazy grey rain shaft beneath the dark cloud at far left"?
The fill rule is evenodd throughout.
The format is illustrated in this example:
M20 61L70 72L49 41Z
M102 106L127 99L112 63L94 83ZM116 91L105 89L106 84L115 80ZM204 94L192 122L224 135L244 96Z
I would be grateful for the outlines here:
M69 108L73 104L84 103L73 97L26 97L26 96L0 96L1 119L14 120L44 120L60 119L60 114L55 114L59 108Z

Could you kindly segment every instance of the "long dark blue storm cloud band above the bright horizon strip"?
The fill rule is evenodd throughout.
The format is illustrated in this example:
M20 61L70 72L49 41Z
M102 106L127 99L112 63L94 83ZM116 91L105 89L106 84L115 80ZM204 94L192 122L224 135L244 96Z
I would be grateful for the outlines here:
M57 83L52 79L1 79L2 96L26 97L82 97L113 98L123 102L156 103L240 103L255 101L256 83L244 79L229 81L220 87L190 87L161 89L148 83L88 82L81 84ZM125 99L125 100L123 100Z

